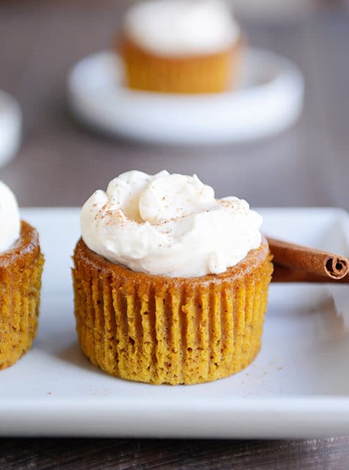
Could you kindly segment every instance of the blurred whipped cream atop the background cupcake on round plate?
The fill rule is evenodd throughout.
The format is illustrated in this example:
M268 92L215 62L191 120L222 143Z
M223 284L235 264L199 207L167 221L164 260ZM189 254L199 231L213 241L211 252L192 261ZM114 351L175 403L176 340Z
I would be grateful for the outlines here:
M191 56L228 49L239 26L221 0L149 0L128 10L124 32L155 54Z

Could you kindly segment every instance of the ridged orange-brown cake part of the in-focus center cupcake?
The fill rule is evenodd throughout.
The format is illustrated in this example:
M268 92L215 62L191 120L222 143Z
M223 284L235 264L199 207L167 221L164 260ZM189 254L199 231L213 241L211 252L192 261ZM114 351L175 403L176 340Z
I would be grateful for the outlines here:
M267 241L219 275L135 273L87 248L74 253L77 335L109 374L151 384L228 377L260 349L272 275Z

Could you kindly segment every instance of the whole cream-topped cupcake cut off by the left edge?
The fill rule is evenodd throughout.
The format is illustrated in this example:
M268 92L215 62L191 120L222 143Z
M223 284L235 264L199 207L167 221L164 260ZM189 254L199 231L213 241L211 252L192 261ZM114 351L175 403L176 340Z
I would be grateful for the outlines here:
M0 181L0 369L31 347L38 328L44 258L38 232L20 220L17 200Z

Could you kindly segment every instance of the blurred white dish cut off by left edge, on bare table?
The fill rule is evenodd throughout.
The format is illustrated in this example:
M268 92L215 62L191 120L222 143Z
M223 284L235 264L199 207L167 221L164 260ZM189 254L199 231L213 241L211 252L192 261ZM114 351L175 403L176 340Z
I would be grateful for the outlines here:
M17 101L0 90L0 167L5 165L20 146L22 112Z

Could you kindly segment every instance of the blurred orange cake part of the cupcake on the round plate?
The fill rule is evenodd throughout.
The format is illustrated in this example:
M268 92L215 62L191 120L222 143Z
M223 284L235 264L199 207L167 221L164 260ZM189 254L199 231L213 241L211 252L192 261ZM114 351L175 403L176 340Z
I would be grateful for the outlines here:
M116 45L124 59L131 89L163 93L219 93L235 82L241 44L216 54L191 57L157 56L128 38Z

